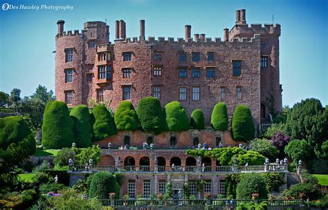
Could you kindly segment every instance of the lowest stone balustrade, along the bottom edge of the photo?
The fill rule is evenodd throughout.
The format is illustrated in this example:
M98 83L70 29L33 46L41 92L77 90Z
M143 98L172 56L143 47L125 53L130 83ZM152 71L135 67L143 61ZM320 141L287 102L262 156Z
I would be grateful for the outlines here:
M138 206L138 207L152 207L152 206L215 206L215 207L237 207L238 204L254 202L266 202L268 206L271 207L287 207L304 204L304 200L293 199L293 200L266 200L266 199L211 199L211 200L186 200L186 199L176 199L176 200L158 200L158 199L102 199L100 200L103 206Z

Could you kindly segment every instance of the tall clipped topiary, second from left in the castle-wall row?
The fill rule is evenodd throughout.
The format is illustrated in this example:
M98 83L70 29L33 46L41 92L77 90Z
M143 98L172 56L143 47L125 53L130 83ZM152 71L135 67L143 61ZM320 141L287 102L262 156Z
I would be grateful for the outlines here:
M78 147L91 146L91 115L86 105L75 106L70 113L74 122L74 142Z

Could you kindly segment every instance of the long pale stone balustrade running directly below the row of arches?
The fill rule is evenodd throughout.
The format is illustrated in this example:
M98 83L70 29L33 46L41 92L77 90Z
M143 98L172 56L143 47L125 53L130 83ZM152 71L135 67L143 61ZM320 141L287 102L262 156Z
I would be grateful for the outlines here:
M263 173L288 172L287 165L259 166L72 166L71 172L122 172L122 173Z

